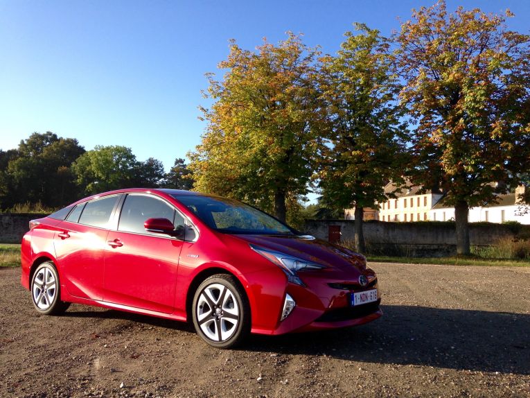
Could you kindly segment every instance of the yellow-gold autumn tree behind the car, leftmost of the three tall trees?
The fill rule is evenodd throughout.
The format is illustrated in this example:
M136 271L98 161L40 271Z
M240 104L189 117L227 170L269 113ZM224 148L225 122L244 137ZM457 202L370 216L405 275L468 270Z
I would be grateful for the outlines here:
M285 220L288 203L308 191L319 120L318 52L288 34L256 52L231 42L222 80L209 74L202 142L188 154L199 191L231 196Z

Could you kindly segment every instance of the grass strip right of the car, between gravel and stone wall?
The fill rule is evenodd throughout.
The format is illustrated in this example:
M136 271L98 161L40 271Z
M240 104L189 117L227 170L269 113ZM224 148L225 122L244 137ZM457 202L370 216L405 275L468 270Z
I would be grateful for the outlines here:
M481 259L476 257L390 257L368 256L368 261L376 263L409 263L409 264L439 264L443 266L501 266L501 267L530 267L529 260L498 260Z

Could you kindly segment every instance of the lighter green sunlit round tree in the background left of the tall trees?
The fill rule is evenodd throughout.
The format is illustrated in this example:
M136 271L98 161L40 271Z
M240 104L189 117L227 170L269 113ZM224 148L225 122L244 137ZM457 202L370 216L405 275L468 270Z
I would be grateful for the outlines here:
M132 188L138 182L138 162L131 148L96 146L72 165L76 182L85 194Z

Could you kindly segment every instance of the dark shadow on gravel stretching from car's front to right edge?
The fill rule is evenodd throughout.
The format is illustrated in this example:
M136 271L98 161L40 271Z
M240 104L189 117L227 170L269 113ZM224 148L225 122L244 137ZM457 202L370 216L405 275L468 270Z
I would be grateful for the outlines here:
M359 327L252 336L241 349L346 361L530 374L530 315L424 306L382 306Z

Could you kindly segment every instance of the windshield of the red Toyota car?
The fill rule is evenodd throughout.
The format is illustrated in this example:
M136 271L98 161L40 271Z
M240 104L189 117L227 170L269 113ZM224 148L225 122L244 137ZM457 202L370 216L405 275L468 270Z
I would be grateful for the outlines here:
M173 195L209 227L227 234L292 235L287 225L249 205L226 198Z

